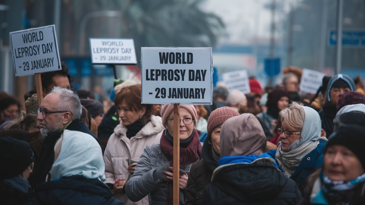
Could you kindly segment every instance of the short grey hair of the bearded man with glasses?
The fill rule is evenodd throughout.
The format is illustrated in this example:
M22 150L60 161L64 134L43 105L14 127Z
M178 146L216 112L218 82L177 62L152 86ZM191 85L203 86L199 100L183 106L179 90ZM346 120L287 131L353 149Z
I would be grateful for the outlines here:
M50 93L59 94L59 100L54 106L55 108L71 112L71 120L80 119L82 109L81 102L77 94L75 94L72 90L56 86Z

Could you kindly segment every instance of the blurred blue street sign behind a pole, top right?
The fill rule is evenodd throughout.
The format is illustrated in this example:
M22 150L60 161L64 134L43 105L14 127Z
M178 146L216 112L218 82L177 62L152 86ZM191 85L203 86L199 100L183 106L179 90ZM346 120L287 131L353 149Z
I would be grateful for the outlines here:
M337 45L337 31L330 30L328 44ZM346 47L365 47L365 30L343 30L342 46Z

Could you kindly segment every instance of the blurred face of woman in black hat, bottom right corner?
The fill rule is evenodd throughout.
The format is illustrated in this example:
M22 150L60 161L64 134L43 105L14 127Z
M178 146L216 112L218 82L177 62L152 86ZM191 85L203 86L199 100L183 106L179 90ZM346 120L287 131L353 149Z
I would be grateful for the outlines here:
M364 173L360 160L342 145L327 148L323 158L324 174L332 181L351 181Z

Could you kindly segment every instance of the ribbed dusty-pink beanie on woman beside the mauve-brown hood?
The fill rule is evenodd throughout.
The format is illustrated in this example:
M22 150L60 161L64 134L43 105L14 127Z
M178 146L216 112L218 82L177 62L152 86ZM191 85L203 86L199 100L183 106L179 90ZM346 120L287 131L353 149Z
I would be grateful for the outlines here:
M222 125L227 119L238 115L239 113L231 107L220 107L212 111L208 118L207 138L211 138L213 129Z

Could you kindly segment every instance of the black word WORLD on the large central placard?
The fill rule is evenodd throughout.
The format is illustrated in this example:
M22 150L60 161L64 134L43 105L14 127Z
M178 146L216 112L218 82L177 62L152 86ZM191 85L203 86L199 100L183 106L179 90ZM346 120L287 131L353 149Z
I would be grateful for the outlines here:
M160 64L192 64L193 53L159 52Z

